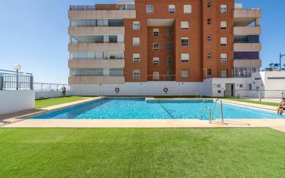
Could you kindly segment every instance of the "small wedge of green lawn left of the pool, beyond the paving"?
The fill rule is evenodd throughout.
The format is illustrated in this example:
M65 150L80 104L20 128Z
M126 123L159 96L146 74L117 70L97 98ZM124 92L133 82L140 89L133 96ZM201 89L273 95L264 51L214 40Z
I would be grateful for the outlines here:
M50 98L50 99L44 99L44 100L35 100L35 107L36 108L43 108L43 107L49 107L53 105L60 105L64 103L69 103L77 100L83 100L86 99L86 97L83 96L67 96L62 98Z

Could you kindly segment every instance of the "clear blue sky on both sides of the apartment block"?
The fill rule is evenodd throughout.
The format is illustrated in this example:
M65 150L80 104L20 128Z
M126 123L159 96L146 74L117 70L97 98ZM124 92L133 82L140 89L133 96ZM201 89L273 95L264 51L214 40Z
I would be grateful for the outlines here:
M0 69L33 73L35 82L67 83L69 5L116 3L111 0L0 0ZM261 8L262 68L285 53L283 0L236 0ZM285 59L284 59L285 61Z

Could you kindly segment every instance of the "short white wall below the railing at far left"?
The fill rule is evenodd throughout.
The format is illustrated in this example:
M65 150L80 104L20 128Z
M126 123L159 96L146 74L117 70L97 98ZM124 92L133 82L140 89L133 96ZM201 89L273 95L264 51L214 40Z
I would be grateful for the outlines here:
M0 91L0 115L35 108L35 91Z

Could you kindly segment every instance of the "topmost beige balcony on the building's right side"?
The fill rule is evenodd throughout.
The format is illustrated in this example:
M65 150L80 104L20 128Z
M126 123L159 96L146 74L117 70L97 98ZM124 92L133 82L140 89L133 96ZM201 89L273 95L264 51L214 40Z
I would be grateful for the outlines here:
M235 9L233 12L235 26L248 26L261 17L259 9Z

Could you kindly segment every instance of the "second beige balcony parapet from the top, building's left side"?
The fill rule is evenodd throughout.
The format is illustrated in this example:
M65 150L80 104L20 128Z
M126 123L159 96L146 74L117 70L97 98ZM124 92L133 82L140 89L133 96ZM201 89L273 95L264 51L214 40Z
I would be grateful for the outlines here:
M125 27L122 26L68 27L68 35L94 35L94 34L125 35Z

